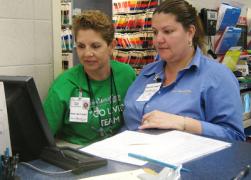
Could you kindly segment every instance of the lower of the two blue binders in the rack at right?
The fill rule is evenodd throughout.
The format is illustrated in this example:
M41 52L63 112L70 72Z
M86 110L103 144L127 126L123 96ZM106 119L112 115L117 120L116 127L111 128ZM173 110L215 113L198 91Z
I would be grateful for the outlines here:
M215 53L225 54L230 47L236 46L240 39L241 32L241 28L228 26L219 39L218 43L216 43Z

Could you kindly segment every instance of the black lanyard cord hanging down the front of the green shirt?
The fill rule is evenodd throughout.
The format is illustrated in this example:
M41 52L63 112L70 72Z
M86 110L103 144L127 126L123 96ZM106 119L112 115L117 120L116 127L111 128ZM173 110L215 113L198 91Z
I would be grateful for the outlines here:
M96 108L98 108L98 105L97 105L97 101L96 101L96 98L95 98L95 95L93 93L93 90L92 90L92 87L91 87L91 82L90 82L90 79L89 79L89 76L87 73L85 73L85 76L86 76L86 81L87 81L87 85L88 85L88 91L89 91L89 96L90 96L90 99L91 99L91 102L92 100L94 101L94 106ZM111 68L111 78L110 78L110 91L111 91L111 104L110 104L110 113L111 113L111 124L113 123L113 86L114 86L114 90L115 90L115 95L116 95L116 100L117 100L117 104L119 105L119 98L118 98L118 92L117 92L117 88L116 88L116 84L115 84L115 81L114 81L114 76L113 76L113 71L112 71L112 68ZM93 106L91 106L91 110L92 112L94 113L94 109L93 109ZM120 111L120 109L119 109ZM98 118L99 118L99 126L102 128L101 126L101 116L100 116L100 112L98 111ZM121 111L120 111L120 118L121 118Z

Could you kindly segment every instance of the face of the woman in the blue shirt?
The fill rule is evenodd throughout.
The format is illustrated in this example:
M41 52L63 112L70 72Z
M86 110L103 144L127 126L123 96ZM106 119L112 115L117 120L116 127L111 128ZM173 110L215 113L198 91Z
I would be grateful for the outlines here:
M194 32L185 31L173 14L156 13L152 18L153 44L161 59L167 62L182 61L191 47Z

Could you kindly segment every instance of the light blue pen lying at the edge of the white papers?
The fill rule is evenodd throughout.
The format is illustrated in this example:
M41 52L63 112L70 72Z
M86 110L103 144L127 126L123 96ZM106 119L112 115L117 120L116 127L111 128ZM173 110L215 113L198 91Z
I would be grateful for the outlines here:
M128 156L136 158L136 159L139 159L139 160L148 161L148 162L160 165L160 166L169 167L171 169L177 169L178 168L177 166L175 166L173 164L162 162L162 161L159 161L159 160L156 160L156 159L152 159L152 158L149 158L149 157L146 157L146 156L142 156L142 155L139 155L139 154L128 153ZM181 171L191 172L189 169L186 169L186 168L181 168Z

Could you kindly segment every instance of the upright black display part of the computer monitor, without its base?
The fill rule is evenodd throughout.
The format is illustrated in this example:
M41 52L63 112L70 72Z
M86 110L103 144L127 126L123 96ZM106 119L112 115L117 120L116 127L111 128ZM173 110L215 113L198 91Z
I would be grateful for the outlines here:
M42 103L30 76L0 76L4 84L12 154L37 159L43 147L55 146Z

